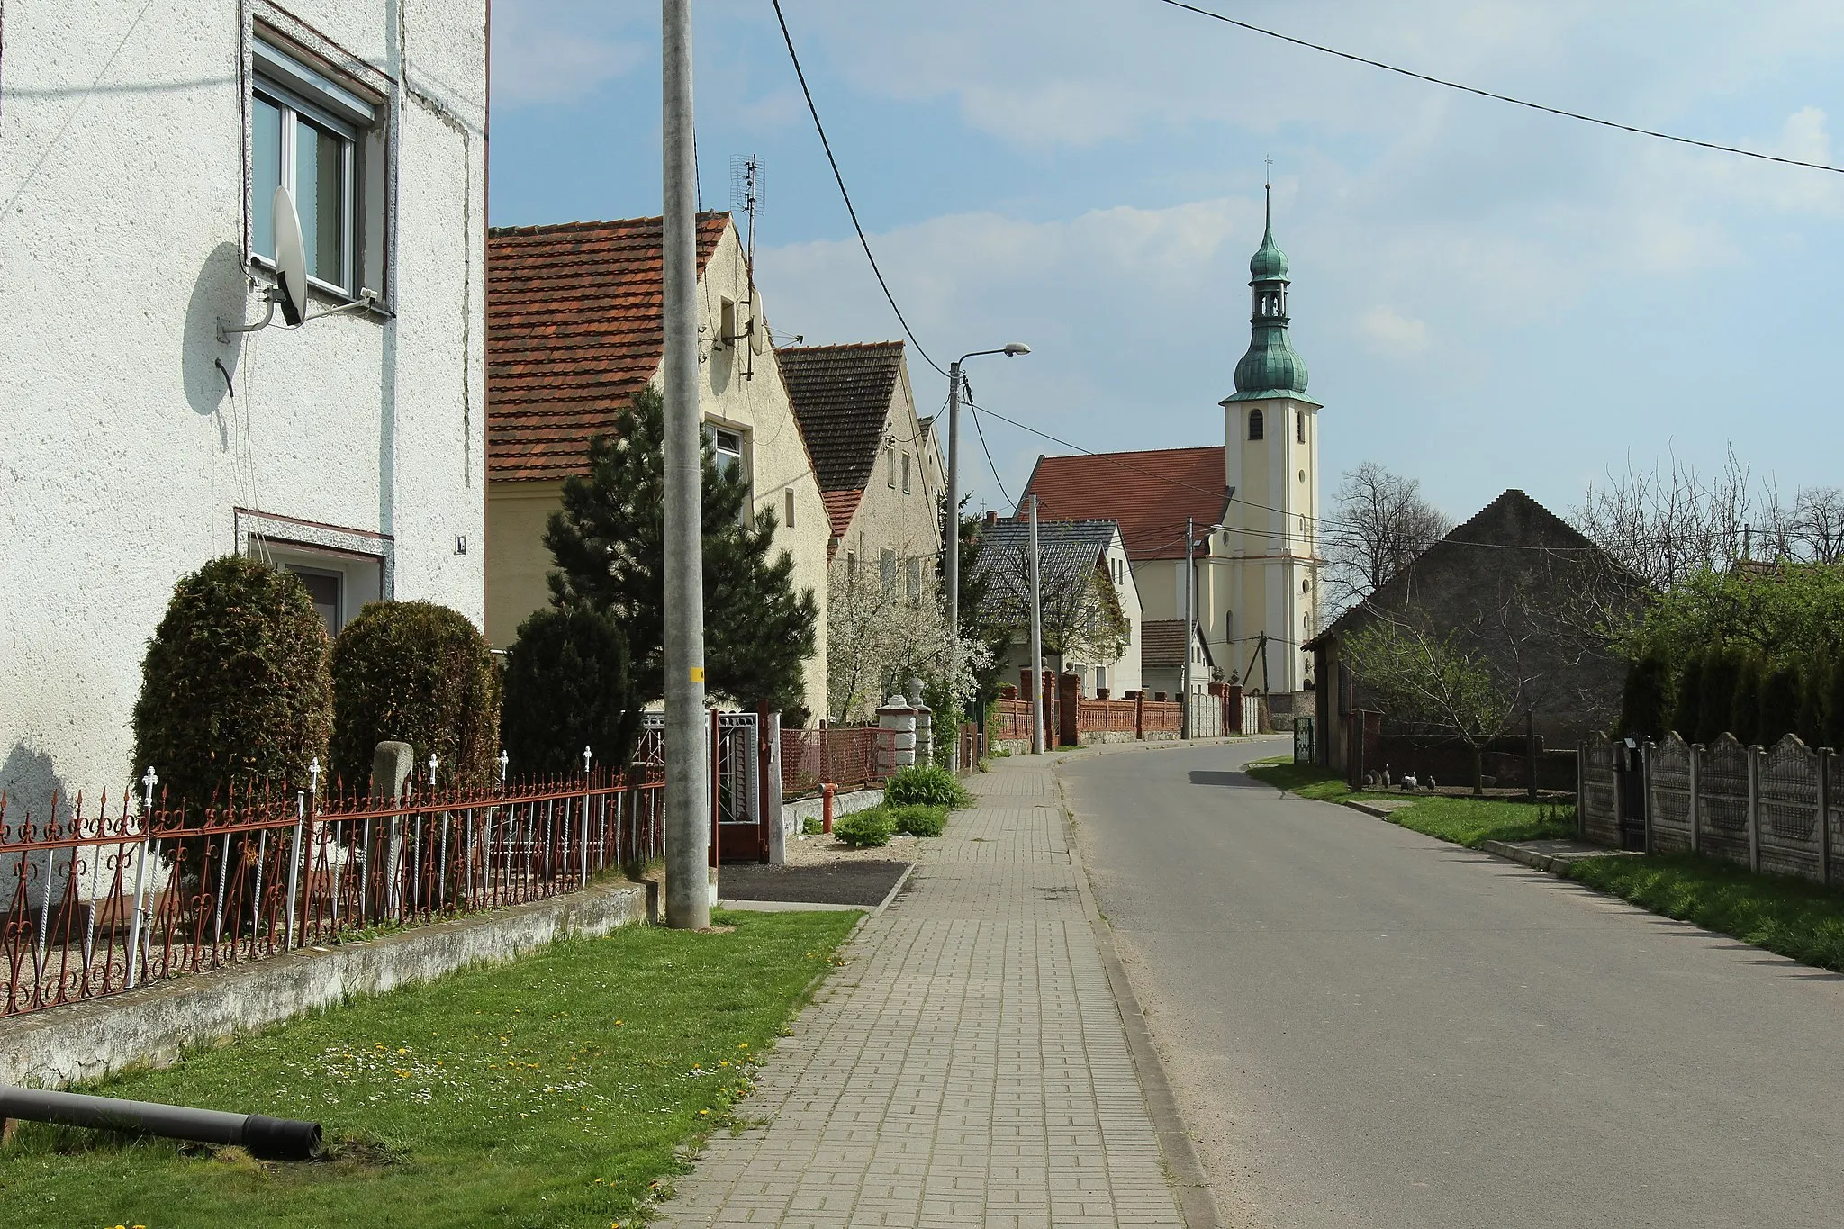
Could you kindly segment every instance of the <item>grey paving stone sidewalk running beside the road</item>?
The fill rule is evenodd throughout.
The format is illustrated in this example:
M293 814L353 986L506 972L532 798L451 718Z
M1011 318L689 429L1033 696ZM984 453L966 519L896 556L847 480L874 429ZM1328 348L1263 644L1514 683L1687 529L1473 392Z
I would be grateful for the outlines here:
M655 1223L1184 1223L1049 765L968 783Z

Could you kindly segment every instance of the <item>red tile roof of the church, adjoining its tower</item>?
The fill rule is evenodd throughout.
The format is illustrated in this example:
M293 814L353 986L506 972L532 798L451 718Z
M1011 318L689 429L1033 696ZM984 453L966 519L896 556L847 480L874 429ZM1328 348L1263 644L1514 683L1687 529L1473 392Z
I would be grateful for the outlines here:
M1223 446L1038 457L1025 494L1040 520L1119 521L1132 560L1184 558L1184 518L1223 520Z

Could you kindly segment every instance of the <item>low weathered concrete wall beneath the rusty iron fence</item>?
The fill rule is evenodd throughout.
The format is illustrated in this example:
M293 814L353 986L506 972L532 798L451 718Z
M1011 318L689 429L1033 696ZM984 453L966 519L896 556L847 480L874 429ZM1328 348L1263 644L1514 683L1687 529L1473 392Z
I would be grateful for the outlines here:
M9 1017L0 1021L0 1083L57 1087L140 1063L164 1067L186 1045L264 1028L349 995L509 960L564 934L607 934L647 921L656 907L653 884L592 886Z

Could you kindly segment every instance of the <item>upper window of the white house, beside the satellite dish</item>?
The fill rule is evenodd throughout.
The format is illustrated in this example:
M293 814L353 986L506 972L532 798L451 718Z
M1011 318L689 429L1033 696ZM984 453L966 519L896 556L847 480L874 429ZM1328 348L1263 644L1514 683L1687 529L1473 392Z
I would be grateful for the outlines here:
M380 109L264 39L251 59L251 254L275 262L273 201L286 188L301 217L308 280L352 297L374 275L363 267L363 232L382 228L382 201L363 193L367 147L382 149L372 142Z

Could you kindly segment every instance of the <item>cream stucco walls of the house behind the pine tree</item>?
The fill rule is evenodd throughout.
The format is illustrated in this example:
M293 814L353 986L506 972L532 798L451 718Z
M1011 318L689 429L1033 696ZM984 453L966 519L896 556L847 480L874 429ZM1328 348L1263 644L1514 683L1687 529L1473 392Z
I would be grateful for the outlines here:
M749 335L738 337L749 334L751 311L763 311L762 289L751 287L743 245L736 228L725 225L699 276L699 409L708 427L741 437L754 507L778 518L776 544L795 560L795 590L813 590L819 643L806 665L806 696L817 717L826 711L830 527L774 348L758 350ZM765 315L756 319L762 326L754 335L765 337ZM660 380L655 369L649 383L660 387ZM489 483L487 638L494 647L511 645L526 615L550 603L544 577L553 560L544 549L544 525L561 499L562 481Z

